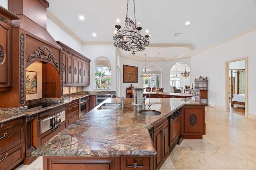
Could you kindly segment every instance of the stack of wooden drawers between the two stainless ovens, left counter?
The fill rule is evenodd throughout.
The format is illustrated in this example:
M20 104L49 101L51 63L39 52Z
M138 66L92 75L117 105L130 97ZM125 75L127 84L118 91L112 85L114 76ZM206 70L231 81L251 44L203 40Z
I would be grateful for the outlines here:
M77 100L72 100L68 103L68 107L66 109L66 125L70 125L74 121L76 121L79 117L79 103Z

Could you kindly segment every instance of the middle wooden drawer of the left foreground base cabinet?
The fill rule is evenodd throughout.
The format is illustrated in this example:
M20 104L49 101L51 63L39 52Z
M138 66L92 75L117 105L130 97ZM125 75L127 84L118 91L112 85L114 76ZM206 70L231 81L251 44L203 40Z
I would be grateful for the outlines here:
M24 142L24 126L0 133L0 153Z

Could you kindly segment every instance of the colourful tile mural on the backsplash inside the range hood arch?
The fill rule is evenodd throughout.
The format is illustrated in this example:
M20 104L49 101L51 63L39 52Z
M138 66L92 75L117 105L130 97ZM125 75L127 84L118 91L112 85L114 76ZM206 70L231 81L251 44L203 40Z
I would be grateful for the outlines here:
M37 93L37 72L26 71L26 94Z

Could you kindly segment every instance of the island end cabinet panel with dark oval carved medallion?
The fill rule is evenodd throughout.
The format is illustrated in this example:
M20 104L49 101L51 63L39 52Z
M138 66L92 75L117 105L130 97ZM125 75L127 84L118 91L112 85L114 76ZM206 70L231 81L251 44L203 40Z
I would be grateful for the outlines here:
M183 106L181 134L183 139L202 139L205 135L205 106Z

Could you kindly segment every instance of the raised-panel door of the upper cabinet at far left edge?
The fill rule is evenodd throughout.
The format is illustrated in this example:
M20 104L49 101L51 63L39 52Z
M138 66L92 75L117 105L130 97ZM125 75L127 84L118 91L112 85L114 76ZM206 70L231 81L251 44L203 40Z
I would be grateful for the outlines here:
M9 25L0 25L0 91L7 91L12 87L11 30Z

